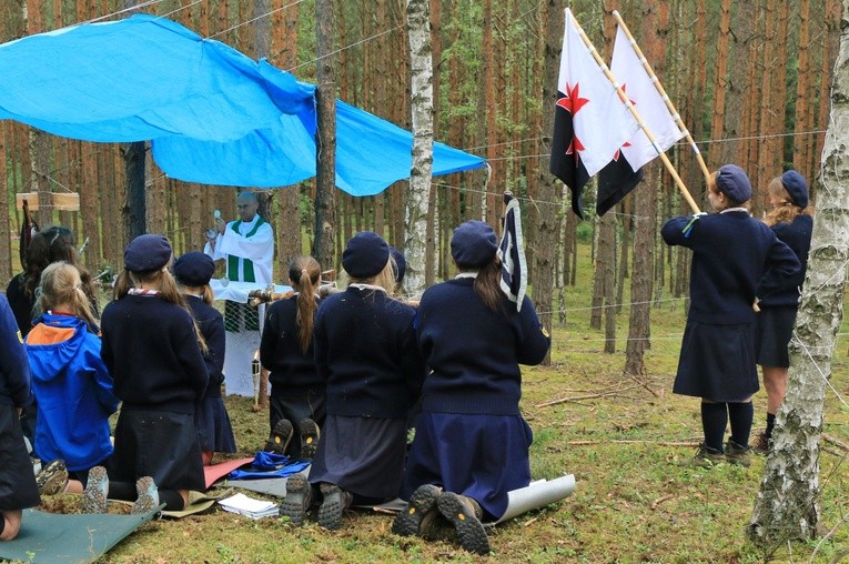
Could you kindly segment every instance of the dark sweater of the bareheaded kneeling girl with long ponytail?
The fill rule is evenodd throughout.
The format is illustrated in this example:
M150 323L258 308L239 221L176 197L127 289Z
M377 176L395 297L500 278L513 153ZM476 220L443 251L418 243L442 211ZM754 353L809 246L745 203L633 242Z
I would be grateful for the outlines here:
M313 344L311 342L306 353L303 353L300 341L297 294L272 303L265 314L260 343L262 365L271 371L269 382L272 396L324 395L324 380L315 369Z

